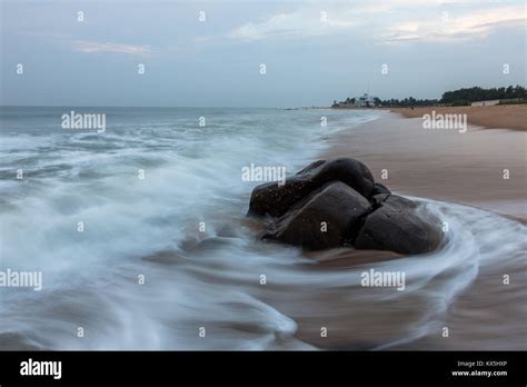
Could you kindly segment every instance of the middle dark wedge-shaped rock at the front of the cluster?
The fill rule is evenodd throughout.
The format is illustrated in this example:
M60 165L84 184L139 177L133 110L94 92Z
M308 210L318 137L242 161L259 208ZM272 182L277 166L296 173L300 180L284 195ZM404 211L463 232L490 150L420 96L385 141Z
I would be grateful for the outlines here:
M264 239L312 250L342 246L370 210L368 200L355 189L340 181L329 182L292 206L271 225Z

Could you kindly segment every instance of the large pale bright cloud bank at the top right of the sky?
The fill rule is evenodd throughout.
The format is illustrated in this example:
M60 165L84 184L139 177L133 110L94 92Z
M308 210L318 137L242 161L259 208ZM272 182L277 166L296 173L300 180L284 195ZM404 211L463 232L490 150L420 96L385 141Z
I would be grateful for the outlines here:
M247 22L226 37L242 42L325 36L372 37L380 43L446 41L486 37L501 27L518 27L525 20L523 6L485 0L311 3Z

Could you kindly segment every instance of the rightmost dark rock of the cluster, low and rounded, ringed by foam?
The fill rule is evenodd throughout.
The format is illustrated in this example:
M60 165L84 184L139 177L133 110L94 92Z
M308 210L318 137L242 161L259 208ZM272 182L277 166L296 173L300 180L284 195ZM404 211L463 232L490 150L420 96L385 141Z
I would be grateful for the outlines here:
M438 219L428 212L418 214L416 202L396 195L379 195L374 200L380 207L367 216L355 240L357 249L425 254L440 245Z

